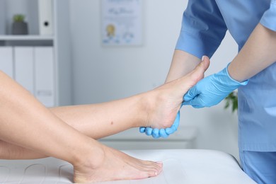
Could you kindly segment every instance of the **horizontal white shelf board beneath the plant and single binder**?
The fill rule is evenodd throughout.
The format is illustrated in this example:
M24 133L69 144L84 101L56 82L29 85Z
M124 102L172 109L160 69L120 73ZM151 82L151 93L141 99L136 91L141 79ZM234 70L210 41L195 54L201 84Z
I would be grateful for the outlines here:
M53 35L0 35L0 41L54 40Z

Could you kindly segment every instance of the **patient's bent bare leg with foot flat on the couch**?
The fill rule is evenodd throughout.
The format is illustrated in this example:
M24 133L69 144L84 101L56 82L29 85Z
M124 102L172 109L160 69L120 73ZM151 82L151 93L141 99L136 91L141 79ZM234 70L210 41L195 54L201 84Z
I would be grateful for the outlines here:
M0 147L1 159L5 154L7 159L25 158L24 153L29 159L53 156L73 164L78 183L148 178L161 172L161 163L134 159L67 125L1 71L0 84L0 139L9 143Z

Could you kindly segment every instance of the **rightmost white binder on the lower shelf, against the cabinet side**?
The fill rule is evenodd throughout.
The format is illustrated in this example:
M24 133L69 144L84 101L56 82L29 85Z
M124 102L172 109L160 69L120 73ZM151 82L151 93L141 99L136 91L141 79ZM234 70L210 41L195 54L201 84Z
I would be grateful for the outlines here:
M35 47L35 97L46 107L54 106L54 50Z

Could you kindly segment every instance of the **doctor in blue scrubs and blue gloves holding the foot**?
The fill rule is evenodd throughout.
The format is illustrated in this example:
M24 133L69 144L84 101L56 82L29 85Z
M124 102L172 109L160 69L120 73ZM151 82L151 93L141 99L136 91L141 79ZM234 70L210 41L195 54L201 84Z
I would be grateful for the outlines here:
M191 88L183 105L211 107L238 88L241 166L257 183L276 183L276 0L190 0L166 82L187 74L203 55L212 57L226 30L238 54ZM153 137L171 133L141 131Z

